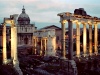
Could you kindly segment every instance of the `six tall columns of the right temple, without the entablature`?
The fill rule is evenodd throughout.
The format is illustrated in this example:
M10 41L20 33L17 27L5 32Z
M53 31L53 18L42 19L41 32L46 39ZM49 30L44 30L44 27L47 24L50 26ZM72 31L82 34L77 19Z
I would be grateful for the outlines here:
M69 49L68 53L69 59L73 59L73 25L71 20L68 21L68 31L69 31ZM63 50L63 58L66 58L66 50L65 50L65 22L66 20L61 21L62 26L62 50ZM80 57L80 22L76 23L76 56ZM86 36L86 24L89 25L89 55L93 55L92 51L92 23L82 23L83 24L83 56L86 57L87 54L87 36ZM94 53L98 54L98 31L97 31L97 23L94 23Z

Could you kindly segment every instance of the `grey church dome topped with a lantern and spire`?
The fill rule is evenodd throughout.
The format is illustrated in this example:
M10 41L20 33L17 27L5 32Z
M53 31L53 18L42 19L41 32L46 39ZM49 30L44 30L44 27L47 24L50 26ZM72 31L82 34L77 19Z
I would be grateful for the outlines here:
M25 13L25 9L24 9L24 6L23 6L23 9L22 9L22 13L19 15L18 17L18 24L19 25L27 25L27 24L30 24L30 18L29 16Z

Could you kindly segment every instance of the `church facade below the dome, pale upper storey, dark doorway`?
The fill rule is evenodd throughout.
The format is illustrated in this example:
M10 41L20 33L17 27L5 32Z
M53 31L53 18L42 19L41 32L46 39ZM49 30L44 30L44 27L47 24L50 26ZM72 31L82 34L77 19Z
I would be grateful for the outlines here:
M17 25L18 45L32 45L32 36L34 30L34 25Z

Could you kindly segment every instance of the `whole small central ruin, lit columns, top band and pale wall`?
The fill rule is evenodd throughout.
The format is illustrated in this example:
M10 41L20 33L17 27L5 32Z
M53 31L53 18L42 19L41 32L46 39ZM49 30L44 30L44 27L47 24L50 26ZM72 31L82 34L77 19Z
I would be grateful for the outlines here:
M43 55L45 51L45 56L55 56L56 55L56 35L55 29L43 29L37 30L33 33L33 47L34 50L40 50L39 54ZM39 45L38 45L39 44ZM39 49L35 49L36 47ZM35 52L34 51L34 52Z

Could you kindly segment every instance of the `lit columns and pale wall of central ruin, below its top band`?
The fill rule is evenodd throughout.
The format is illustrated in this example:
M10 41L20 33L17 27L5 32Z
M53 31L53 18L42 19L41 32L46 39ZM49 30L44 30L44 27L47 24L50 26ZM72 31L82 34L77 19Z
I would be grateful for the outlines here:
M55 56L56 51L56 37L33 37L34 54L44 56ZM38 47L38 48L37 48Z

